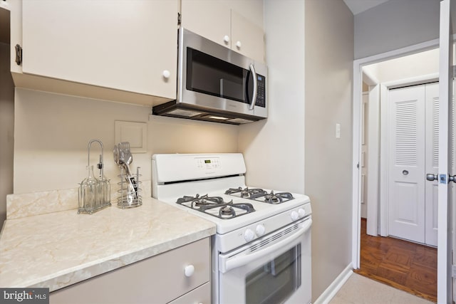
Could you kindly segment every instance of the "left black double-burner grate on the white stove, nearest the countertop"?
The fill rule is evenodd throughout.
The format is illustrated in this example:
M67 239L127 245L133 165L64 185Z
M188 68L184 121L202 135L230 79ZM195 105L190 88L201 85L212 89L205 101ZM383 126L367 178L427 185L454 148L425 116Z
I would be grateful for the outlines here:
M177 199L176 203L219 219L232 219L255 211L252 204L234 204L232 200L226 202L220 196L208 196L207 194L183 196Z

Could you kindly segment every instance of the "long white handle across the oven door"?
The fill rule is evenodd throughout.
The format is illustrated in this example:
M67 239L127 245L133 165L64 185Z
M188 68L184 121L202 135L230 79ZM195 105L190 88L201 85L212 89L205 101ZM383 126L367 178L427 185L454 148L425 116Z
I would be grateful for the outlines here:
M219 256L219 271L221 273L227 273L234 268L244 266L252 261L261 258L262 256L267 256L280 248L284 248L286 244L292 243L296 239L299 239L303 234L305 234L311 228L311 224L312 219L304 221L303 226L296 230L291 236L288 236L286 239L283 239L269 247L266 247L254 253L250 253L244 256L234 256L232 258L228 256Z

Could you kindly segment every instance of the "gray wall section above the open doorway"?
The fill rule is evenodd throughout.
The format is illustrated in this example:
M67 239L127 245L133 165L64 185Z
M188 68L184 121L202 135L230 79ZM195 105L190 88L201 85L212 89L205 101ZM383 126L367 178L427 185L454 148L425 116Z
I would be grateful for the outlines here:
M355 16L355 58L439 37L440 0L390 0Z

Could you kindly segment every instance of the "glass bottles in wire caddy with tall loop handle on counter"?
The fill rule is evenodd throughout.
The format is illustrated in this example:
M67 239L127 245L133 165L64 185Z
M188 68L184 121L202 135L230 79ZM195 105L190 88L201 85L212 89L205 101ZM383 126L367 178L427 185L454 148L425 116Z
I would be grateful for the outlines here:
M90 166L90 146L93 142L98 142L101 147L100 162L97 165L100 169L98 179L93 174L93 166ZM93 214L95 211L111 206L110 182L103 174L103 143L100 140L90 140L88 143L87 169L88 177L83 179L79 187L78 214Z

